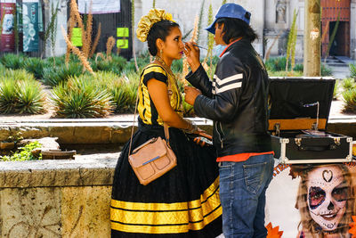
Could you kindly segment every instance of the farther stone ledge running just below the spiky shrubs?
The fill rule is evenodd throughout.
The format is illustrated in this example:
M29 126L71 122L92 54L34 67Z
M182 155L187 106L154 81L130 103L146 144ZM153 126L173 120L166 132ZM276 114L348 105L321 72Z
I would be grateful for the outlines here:
M131 135L132 115L125 119L0 120L0 141L20 132L24 138L58 137L59 144L125 144ZM213 122L194 118L199 127L212 132ZM137 128L137 121L134 125Z

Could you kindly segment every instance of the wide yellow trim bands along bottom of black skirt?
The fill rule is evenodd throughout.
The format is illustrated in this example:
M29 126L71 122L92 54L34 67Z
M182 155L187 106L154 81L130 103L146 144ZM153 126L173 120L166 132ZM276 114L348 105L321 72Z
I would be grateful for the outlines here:
M142 203L111 200L111 228L125 233L177 234L201 230L220 217L219 177L194 201Z

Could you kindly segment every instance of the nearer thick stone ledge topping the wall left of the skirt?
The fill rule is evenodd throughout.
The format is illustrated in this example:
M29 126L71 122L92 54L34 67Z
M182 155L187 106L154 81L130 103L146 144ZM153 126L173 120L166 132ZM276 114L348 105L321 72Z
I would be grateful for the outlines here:
M117 158L0 162L0 188L112 185Z

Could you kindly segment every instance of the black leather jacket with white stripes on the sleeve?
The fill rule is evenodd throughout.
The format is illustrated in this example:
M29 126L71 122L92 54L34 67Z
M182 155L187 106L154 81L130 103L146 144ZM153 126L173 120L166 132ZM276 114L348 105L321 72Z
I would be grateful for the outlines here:
M269 78L249 41L229 46L216 66L213 82L200 65L187 80L201 90L194 103L198 117L214 120L218 156L271 152L268 133Z

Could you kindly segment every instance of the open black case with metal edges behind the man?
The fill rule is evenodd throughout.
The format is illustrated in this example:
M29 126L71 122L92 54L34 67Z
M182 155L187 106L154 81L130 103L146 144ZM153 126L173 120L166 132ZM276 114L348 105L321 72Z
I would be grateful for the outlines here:
M269 130L280 163L352 161L352 137L327 132L335 82L334 78L271 78Z

